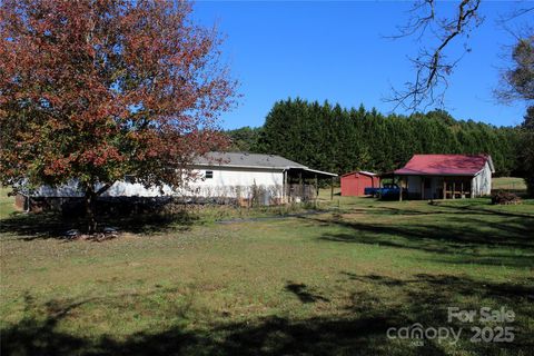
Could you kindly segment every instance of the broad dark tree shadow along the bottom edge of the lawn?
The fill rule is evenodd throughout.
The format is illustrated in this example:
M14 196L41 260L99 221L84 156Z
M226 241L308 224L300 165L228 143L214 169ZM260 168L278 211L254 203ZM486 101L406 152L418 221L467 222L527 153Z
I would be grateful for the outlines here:
M454 352L469 355L528 354L534 317L530 295L534 286L482 283L468 277L418 274L406 279L342 271L342 283L353 290L350 303L330 316L289 318L258 317L200 327L171 326L144 330L122 338L93 338L70 334L61 327L82 301L49 301L44 308L27 298L26 317L2 330L2 355L448 355L451 348L435 339L414 346L413 339L389 339L387 330L419 323L424 327L464 328ZM298 285L298 284L297 284ZM380 294L380 287L386 293ZM109 303L102 299L100 303ZM469 342L471 324L447 322L447 307L478 309L506 306L517 315L512 344ZM41 314L33 309L42 310ZM33 312L33 313L32 313ZM76 314L76 313L75 313ZM479 325L476 324L475 325ZM492 324L492 326L494 326Z

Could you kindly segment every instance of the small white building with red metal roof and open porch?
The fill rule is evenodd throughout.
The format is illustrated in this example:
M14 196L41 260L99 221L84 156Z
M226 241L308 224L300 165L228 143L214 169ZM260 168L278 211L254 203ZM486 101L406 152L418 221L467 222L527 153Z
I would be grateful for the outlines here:
M414 155L394 175L413 198L454 199L490 195L493 172L488 155Z

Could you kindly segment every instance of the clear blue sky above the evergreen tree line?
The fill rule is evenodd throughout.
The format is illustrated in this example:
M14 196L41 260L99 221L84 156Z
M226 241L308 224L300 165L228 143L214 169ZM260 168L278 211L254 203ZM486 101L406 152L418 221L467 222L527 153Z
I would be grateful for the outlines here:
M226 36L224 58L239 83L239 106L224 113L222 127L261 126L273 103L288 97L328 100L344 107L376 107L392 112L383 99L390 87L412 80L407 60L419 43L392 41L396 26L407 21L406 2L378 1L198 1L196 21L217 23ZM451 2L442 3L447 11ZM469 38L467 53L449 78L445 109L457 119L496 126L517 125L525 105L496 102L498 70L507 62L514 38L496 24L514 2L481 4L483 24ZM525 21L532 19L520 19ZM510 26L514 26L511 23ZM451 48L458 55L463 40ZM405 113L398 109L397 113Z

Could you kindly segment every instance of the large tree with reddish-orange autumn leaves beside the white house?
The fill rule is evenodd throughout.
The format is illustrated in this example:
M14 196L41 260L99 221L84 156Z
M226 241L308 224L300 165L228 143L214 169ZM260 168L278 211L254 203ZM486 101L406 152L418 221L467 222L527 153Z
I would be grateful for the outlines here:
M3 0L2 184L77 181L95 201L126 174L179 187L191 159L222 144L235 82L215 29L176 1Z

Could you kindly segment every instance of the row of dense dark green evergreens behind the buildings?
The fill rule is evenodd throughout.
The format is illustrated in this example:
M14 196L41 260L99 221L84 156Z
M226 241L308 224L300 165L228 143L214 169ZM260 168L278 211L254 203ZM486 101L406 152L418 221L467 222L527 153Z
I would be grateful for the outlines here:
M287 99L260 128L228 131L234 150L273 154L336 174L390 171L414 154L490 154L496 175L522 172L520 129L455 120L444 110L411 116Z

